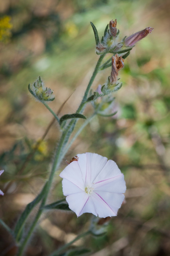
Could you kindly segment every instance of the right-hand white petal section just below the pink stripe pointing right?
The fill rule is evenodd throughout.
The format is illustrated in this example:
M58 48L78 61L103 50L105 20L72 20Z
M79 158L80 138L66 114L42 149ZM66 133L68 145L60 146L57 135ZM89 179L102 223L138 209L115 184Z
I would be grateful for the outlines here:
M119 176L97 182L93 187L94 191L107 191L112 193L125 193L126 191L123 173Z

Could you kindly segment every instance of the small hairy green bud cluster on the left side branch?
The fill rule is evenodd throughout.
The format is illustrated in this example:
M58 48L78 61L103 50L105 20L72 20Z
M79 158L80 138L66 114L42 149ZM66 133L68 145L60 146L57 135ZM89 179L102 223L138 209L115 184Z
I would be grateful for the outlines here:
M34 82L32 86L28 86L31 94L40 101L53 101L55 99L53 91L50 88L44 86L41 77Z

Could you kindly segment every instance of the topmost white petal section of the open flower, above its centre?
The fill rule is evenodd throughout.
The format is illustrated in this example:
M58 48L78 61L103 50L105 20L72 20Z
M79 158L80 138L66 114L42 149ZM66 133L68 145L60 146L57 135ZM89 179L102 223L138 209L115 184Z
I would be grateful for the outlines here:
M94 182L100 171L107 163L107 157L100 156L95 153L86 153L86 183L91 184Z

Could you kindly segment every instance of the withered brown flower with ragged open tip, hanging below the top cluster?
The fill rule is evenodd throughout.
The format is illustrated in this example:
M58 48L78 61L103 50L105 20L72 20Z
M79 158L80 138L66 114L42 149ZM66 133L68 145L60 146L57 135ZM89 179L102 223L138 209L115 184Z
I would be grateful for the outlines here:
M109 78L111 84L115 84L117 82L118 71L124 67L123 62L124 59L122 56L119 57L118 54L112 56L112 71Z

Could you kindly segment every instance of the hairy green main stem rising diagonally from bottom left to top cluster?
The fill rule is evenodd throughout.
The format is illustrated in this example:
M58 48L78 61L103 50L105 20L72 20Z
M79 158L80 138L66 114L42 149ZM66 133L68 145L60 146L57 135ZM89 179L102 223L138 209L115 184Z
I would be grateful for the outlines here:
M81 102L79 108L77 109L76 113L82 113L83 112L84 107L85 107L85 103L86 103L86 100L87 100L87 97L88 97L88 93L89 93L89 90L90 90L90 87L91 87L91 85L92 85L92 83L93 83L93 81L94 81L94 79L95 79L95 77L96 77L96 75L98 73L100 64L101 64L101 62L102 62L102 60L103 60L105 55L106 55L106 53L103 53L103 54L100 55L100 58L97 61L96 67L94 69L94 72L93 72L93 74L92 74L92 76L90 78L90 81L89 81L88 86L86 88L86 91L84 93L84 97L82 99L82 102ZM48 105L45 105L45 106L47 107ZM49 109L49 110L51 112L51 109ZM47 200L47 197L48 197L48 193L49 193L51 184L53 182L53 177L54 177L55 171L58 169L62 159L64 158L64 155L67 153L67 150L64 150L64 149L65 149L65 146L66 146L66 144L67 144L67 142L68 142L68 140L70 138L70 135L71 135L72 131L74 130L75 124L76 124L76 121L72 120L69 123L69 125L67 126L66 131L64 131L62 133L59 145L58 145L56 153L55 153L54 163L53 163L53 167L51 169L50 176L49 176L49 179L48 179L48 185L47 185L45 196L44 196L44 198L42 200L40 208L38 209L38 212L37 212L37 214L35 216L35 219L34 219L32 225L31 225L31 227L30 227L30 229L28 231L28 234L25 237L25 239L23 240L23 242L21 244L21 247L19 248L17 256L22 256L22 253L23 253L23 251L25 249L25 246L27 245L27 243L28 243L28 241L29 241L29 239L31 237L31 234L34 231L34 229L36 227L36 224L37 224L37 222L38 222L38 220L39 220L39 218L40 218L40 216L41 216L41 214L43 212L43 206L46 203L46 200ZM63 151L64 151L64 155L62 155Z

